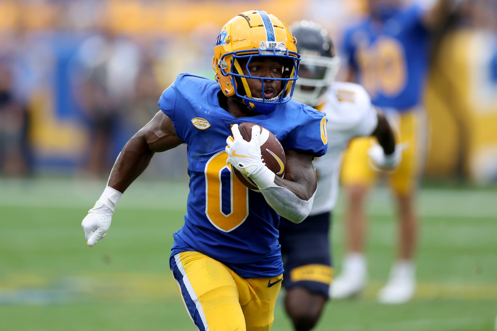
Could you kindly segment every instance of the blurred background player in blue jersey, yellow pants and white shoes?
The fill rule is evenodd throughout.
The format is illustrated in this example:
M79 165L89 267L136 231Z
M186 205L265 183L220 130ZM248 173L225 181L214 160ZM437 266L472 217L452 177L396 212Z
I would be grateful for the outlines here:
M421 7L413 1L369 0L369 15L348 28L343 52L349 81L369 92L395 128L399 143L408 146L399 167L388 174L399 218L398 253L378 300L386 304L409 301L415 291L414 252L418 217L415 196L425 157L426 119L421 106L429 66L430 36L443 26L457 4L435 0ZM347 194L346 255L331 288L335 299L352 297L367 281L365 202L378 172L367 163L371 139L352 141L344 155L342 183Z

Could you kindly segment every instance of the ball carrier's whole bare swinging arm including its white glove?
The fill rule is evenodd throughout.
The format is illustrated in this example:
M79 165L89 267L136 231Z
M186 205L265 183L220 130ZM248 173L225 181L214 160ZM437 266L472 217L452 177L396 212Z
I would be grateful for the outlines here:
M181 140L172 121L161 111L129 139L112 167L107 187L81 223L88 246L94 246L107 235L117 202L147 168L154 153L179 144Z

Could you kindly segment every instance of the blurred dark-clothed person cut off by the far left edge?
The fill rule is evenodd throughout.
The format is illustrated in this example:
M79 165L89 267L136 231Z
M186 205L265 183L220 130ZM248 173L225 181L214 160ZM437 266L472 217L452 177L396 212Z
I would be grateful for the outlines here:
M25 177L32 170L29 113L15 96L11 67L8 60L0 59L0 175Z

